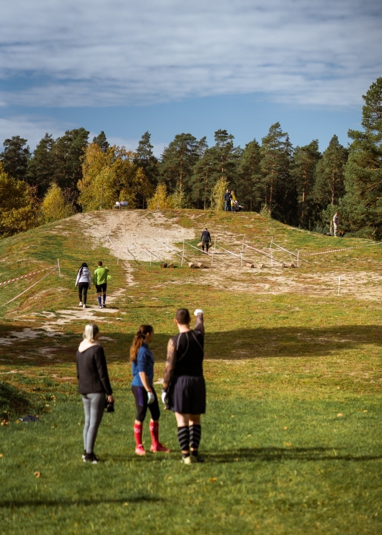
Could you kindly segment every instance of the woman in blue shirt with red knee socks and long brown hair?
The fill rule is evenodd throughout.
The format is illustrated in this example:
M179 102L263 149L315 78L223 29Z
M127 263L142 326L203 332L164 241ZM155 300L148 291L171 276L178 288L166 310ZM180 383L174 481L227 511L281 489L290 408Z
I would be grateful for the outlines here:
M141 325L135 334L130 347L130 362L132 370L131 391L134 394L137 415L134 422L135 453L146 455L142 444L143 422L147 407L151 413L150 451L153 453L169 453L169 449L159 442L159 404L157 393L153 387L154 356L149 349L149 343L154 339L154 329L151 325Z

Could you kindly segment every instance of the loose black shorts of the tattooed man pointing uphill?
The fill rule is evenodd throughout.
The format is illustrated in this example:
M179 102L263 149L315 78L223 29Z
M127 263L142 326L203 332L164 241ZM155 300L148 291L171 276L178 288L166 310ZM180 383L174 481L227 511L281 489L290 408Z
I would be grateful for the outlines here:
M204 377L174 377L168 391L168 408L181 414L205 414L206 383Z

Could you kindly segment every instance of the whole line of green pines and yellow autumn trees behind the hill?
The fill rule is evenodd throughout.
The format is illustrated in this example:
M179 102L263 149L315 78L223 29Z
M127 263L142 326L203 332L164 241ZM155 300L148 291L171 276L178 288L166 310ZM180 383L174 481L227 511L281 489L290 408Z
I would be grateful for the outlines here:
M349 130L348 147L333 135L293 147L279 123L244 148L226 130L206 137L177 134L160 158L149 132L135 151L111 147L101 132L75 128L45 134L30 152L13 136L0 154L0 235L11 235L74 211L112 208L216 209L228 186L247 211L282 223L328 232L335 211L344 231L382 238L382 78L363 96L363 131Z

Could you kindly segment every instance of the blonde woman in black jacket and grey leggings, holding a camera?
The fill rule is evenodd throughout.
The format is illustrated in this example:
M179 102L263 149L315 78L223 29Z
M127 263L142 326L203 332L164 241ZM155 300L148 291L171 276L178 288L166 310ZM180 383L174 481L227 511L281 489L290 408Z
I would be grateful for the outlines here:
M97 464L98 461L93 448L105 410L105 394L107 394L108 403L114 402L105 353L98 338L98 326L95 324L86 325L83 341L80 343L76 358L78 390L82 394L85 410L82 458L84 462L92 464Z

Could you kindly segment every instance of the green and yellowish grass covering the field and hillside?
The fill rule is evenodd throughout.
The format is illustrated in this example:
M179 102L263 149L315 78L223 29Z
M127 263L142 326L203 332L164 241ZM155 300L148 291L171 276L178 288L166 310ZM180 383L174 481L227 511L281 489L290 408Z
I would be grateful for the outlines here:
M169 225L176 221L197 235L208 224L232 247L244 235L258 246L274 238L301 254L334 248L329 237L251 214L234 223L230 215L196 210L166 215ZM83 409L75 379L84 320L69 321L63 312L77 304L74 280L84 241L71 218L0 242L1 280L54 265L57 258L63 274L51 274L0 308L0 533L382 532L381 308L372 298L380 291L378 247L317 255L298 270L273 275L239 266L117 266L104 243L89 244L89 265L102 257L112 272L111 291L126 289L113 302L115 311L94 312L106 337L116 411L104 416L96 442L103 462L93 466L81 461ZM127 286L131 269L134 284ZM336 282L325 281L328 272L350 280L365 271L368 299L357 288L337 298ZM319 275L322 295L314 278ZM289 290L273 292L275 277ZM0 305L36 280L0 288ZM308 281L303 292L301 280ZM191 467L180 463L175 418L167 411L160 435L171 453L134 454L127 362L137 326L152 323L155 377L162 376L173 314L181 305L201 306L207 330L206 463ZM63 318L66 323L46 330ZM40 422L20 423L26 414L38 414ZM148 422L144 440L149 446Z

